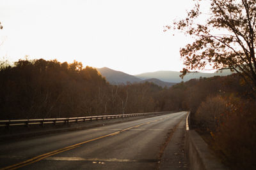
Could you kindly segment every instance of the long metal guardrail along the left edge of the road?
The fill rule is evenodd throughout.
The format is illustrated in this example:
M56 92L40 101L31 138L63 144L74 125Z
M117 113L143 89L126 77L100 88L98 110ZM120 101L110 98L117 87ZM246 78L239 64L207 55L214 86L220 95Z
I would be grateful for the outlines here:
M0 120L0 127L11 127L24 125L29 127L29 125L42 125L45 124L69 124L70 122L86 122L93 120L108 120L111 118L125 118L125 117L141 117L146 115L159 115L164 113L170 113L170 111L152 112L152 113L132 113L123 115L102 115L93 117L73 117L73 118L41 118L41 119L23 119L23 120Z

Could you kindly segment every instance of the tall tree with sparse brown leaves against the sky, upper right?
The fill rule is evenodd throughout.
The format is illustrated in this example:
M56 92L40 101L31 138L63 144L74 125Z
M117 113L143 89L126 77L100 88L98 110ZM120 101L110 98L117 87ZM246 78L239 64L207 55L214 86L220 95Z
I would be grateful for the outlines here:
M209 13L200 8L203 1L195 1L187 17L173 23L174 29L195 38L193 43L180 49L186 66L181 71L182 76L192 70L205 69L205 66L230 69L256 90L256 1L209 0Z

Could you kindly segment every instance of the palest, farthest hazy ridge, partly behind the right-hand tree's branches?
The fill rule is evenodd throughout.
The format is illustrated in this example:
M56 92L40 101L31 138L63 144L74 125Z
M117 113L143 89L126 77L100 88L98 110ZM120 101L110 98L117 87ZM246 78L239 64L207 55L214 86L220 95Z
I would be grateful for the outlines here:
M148 78L157 78L161 81L166 82L174 82L179 83L180 81L188 81L193 78L200 78L200 77L212 77L212 76L227 76L228 74L232 74L229 70L223 70L222 72L218 71L215 73L189 73L188 75L184 76L184 79L180 78L181 73L178 71L156 71L150 73L142 73L135 75L136 77L146 80Z

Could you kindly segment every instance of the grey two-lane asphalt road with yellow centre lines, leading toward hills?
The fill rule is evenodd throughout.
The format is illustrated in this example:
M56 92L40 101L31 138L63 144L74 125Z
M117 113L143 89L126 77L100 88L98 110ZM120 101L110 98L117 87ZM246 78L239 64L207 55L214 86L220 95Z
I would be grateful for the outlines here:
M186 112L0 143L2 169L187 169Z

